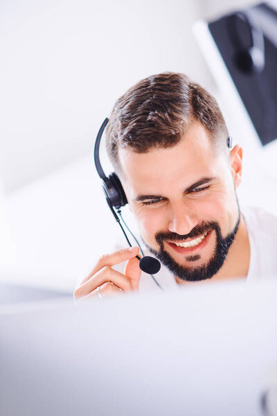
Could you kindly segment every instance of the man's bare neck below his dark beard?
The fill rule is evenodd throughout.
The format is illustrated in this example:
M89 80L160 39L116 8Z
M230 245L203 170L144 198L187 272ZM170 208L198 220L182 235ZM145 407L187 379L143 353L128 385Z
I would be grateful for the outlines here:
M222 268L218 270L211 280L233 280L233 279L245 279L249 270L250 261L250 243L247 226L245 224L242 214L240 214L240 225L238 226L238 232L235 235L235 239L229 248L229 252L222 265ZM178 284L195 284L202 283L202 281L184 281L175 277Z

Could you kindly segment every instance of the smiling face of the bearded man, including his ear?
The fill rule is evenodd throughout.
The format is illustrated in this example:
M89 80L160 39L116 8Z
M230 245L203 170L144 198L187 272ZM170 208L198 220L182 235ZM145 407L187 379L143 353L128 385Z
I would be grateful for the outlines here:
M194 122L171 148L119 151L141 236L181 279L206 279L222 267L239 225L240 150L215 154L208 130Z

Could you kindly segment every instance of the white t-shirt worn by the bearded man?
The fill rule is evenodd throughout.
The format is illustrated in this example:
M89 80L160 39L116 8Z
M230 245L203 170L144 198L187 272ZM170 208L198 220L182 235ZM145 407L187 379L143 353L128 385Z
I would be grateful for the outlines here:
M277 217L274 214L258 208L244 207L242 209L250 242L250 264L247 281L258 281L267 277L277 278ZM141 242L140 242L141 243ZM153 256L148 248L143 246L145 256ZM123 272L123 266L116 268ZM177 282L172 273L161 264L161 270L154 275L162 288L176 287ZM141 273L140 291L160 290L152 277Z

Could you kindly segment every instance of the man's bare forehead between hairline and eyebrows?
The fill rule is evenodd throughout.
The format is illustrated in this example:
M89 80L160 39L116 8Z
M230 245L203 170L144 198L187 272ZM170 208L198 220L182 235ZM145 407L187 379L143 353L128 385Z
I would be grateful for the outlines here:
M170 148L152 148L148 153L120 149L118 158L123 182L134 192L183 186L208 175L215 176L220 157L215 156L210 133L201 123L193 123L179 143ZM184 182L185 181L185 182Z

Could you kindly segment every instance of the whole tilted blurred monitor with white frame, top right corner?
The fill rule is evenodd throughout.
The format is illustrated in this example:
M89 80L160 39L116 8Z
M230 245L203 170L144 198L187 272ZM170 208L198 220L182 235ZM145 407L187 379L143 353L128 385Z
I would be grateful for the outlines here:
M208 23L195 35L233 111L246 110L260 143L277 137L277 9L261 3ZM218 58L220 56L220 58ZM235 90L235 91L233 91Z

